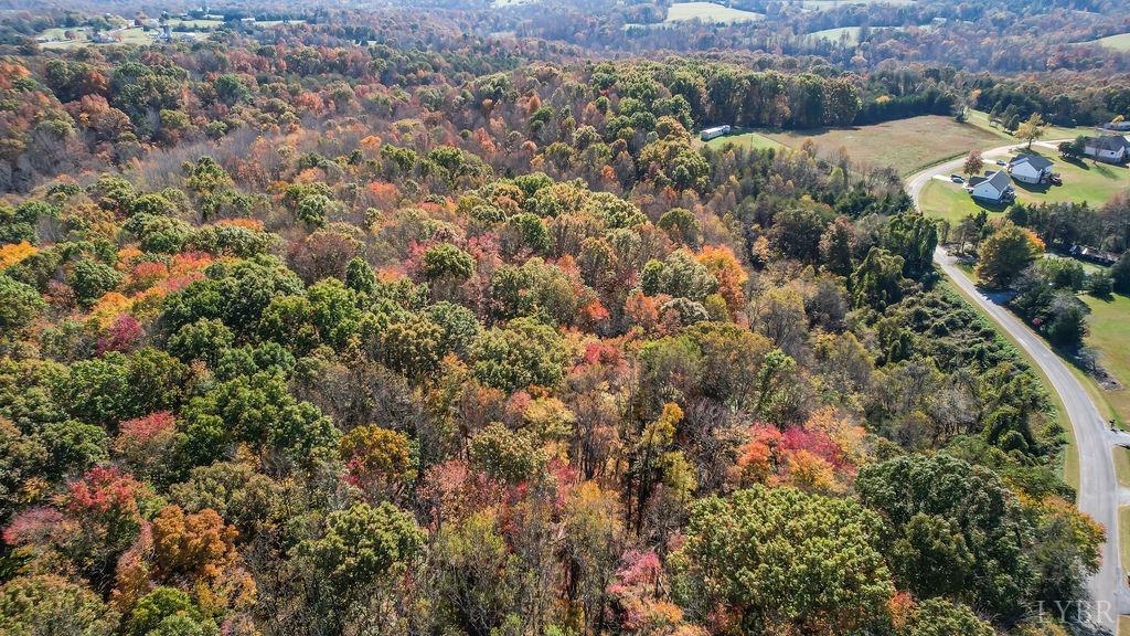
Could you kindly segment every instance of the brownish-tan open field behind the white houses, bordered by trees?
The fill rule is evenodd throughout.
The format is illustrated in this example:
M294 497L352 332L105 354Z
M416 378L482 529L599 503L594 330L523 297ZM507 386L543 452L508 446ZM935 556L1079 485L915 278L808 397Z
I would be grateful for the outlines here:
M817 152L824 155L844 148L858 162L893 167L902 175L963 155L970 148L1000 145L996 135L941 115L853 128L770 132L766 137L794 148L811 139Z

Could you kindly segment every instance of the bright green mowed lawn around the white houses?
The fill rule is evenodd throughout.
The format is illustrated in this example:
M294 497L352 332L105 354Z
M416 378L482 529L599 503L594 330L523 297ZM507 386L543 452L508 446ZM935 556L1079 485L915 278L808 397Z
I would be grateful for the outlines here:
M1052 160L1053 172L1063 178L1062 186L1032 186L1014 181L1016 199L1026 204L1041 203L1084 203L1092 206L1109 201L1114 195L1130 189L1130 169L1123 165L1111 165L1102 162L1072 161L1060 158L1059 153L1048 148L1034 149ZM985 170L993 170L993 158L985 160ZM956 224L967 214L976 214L984 209L989 215L1005 212L1005 206L986 206L974 201L959 183L932 180L922 188L920 200L922 210L928 215L949 220Z

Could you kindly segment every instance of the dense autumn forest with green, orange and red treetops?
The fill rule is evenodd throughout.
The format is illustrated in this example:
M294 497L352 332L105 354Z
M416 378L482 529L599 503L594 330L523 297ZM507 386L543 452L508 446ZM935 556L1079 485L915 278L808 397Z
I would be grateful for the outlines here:
M1104 532L937 226L889 170L696 138L1052 96L475 10L12 15L0 633L1067 634L1033 608Z

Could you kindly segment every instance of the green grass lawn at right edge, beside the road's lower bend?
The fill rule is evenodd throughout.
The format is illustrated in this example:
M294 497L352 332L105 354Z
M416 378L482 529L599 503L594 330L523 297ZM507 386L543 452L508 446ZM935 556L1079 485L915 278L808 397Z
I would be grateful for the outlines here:
M1087 325L1090 333L1086 343L1098 352L1103 368L1110 371L1119 383L1121 390L1097 392L1110 404L1122 428L1130 424L1130 298L1114 294L1111 300L1097 299L1085 294L1080 296L1090 308ZM1127 454L1127 452L1122 452ZM1127 485L1130 485L1128 473Z

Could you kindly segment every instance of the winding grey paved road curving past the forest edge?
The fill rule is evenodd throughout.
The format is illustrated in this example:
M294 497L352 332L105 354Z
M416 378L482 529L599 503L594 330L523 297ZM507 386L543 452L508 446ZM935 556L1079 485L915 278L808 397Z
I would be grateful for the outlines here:
M1045 144L1054 145L1055 141ZM1023 146L1024 144L1001 146L984 151L983 154L986 158L997 157ZM919 194L931 179L938 174L948 174L959 170L964 162L965 158L962 157L910 177L906 180L906 191L914 199L914 205L918 205ZM1127 588L1125 575L1119 560L1118 509L1120 489L1114 475L1111 454L1111 449L1116 442L1125 441L1125 436L1109 430L1086 389L1079 384L1067 363L1044 343L1043 338L1028 329L1012 312L982 294L973 281L956 267L954 259L944 249L938 248L933 253L933 259L958 287L1003 327L1035 360L1063 402L1068 416L1071 419L1071 427L1075 429L1076 445L1079 452L1079 509L1106 527L1106 543L1102 552L1103 564L1088 584L1093 601L1092 604L1087 605L1088 613L1092 618L1090 622L1096 628L1113 634L1116 630L1116 614L1130 613L1130 590Z

